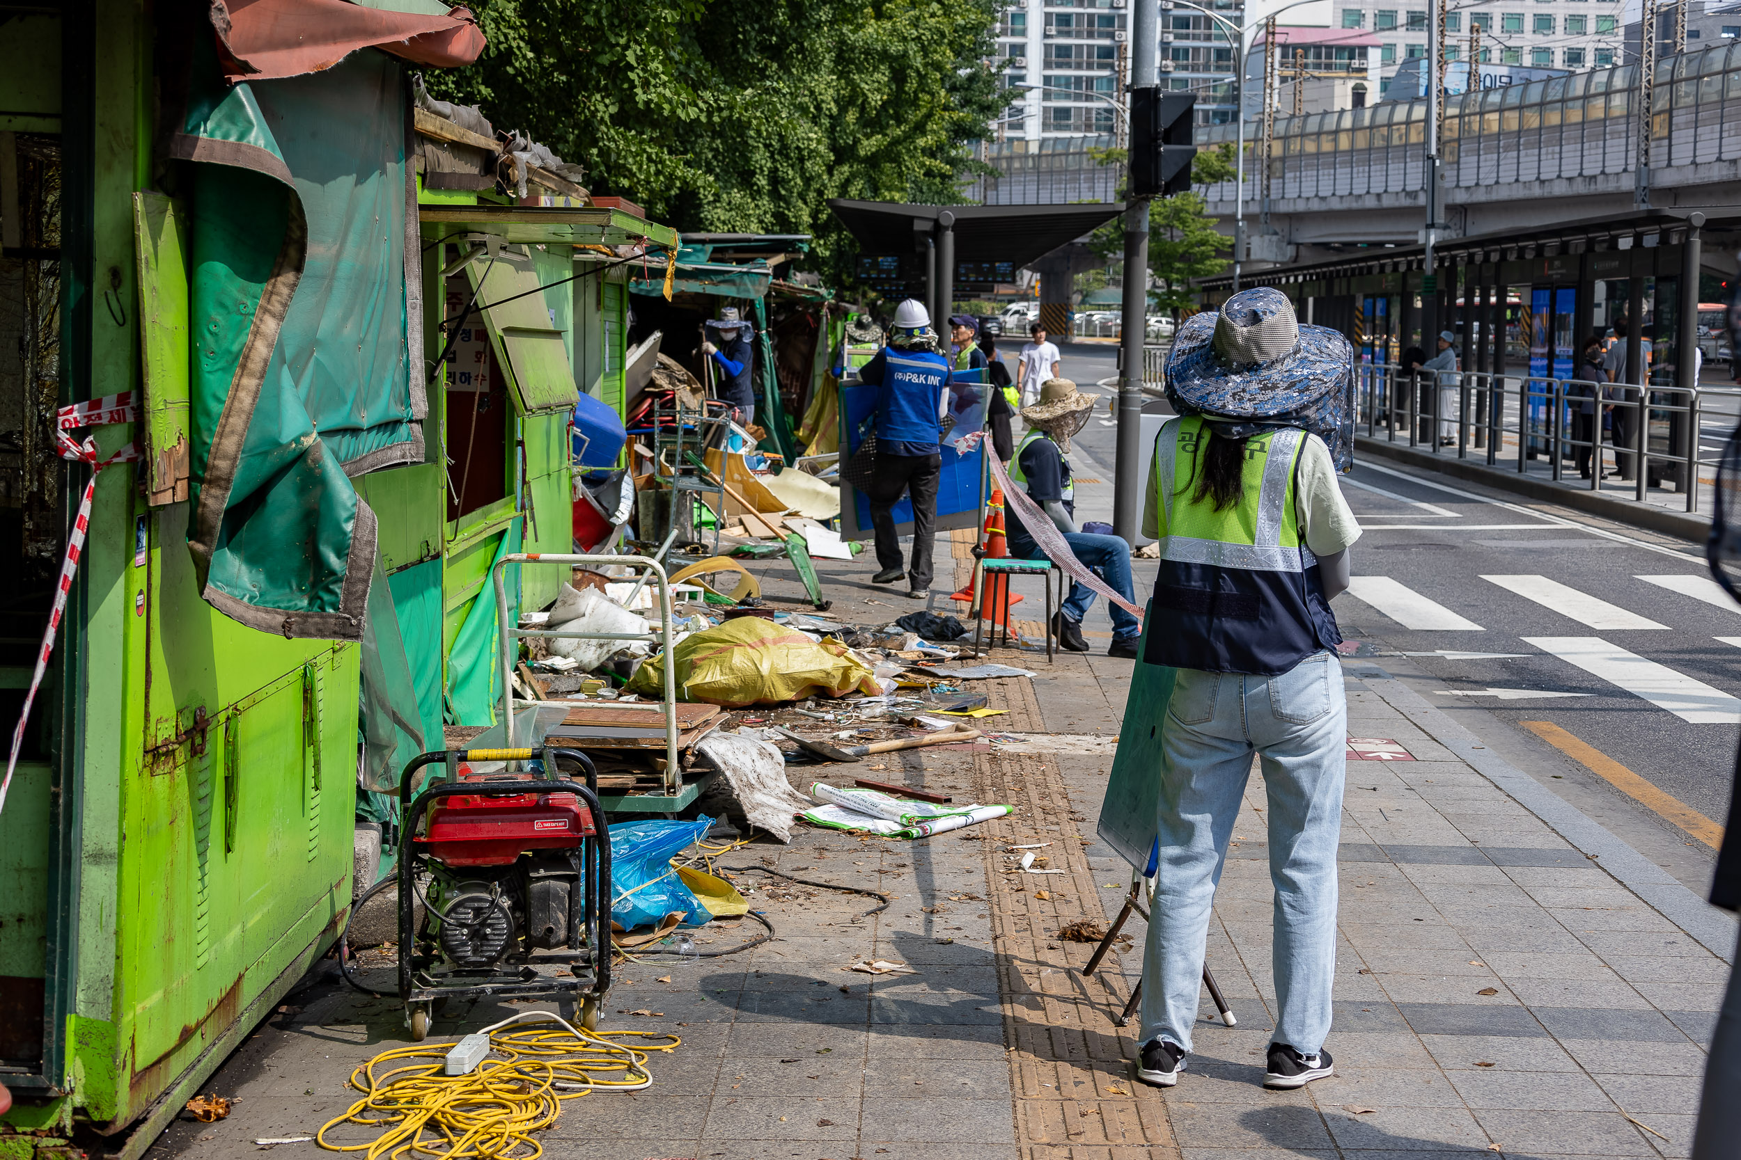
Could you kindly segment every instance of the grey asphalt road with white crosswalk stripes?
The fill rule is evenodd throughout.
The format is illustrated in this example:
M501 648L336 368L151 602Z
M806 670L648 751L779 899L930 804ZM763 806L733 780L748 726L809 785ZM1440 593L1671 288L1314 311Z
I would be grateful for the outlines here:
M1116 350L1064 344L1060 370L1111 395L1095 384L1116 374ZM1708 442L1720 442L1715 426ZM1112 470L1106 405L1076 442ZM1741 605L1710 590L1697 546L1382 461L1358 463L1342 490L1365 534L1353 550L1356 588L1335 612L1363 652L1405 654L1450 690L1435 697L1466 723L1476 706L1494 725L1548 722L1725 819L1741 734ZM1139 570L1142 586L1149 569Z

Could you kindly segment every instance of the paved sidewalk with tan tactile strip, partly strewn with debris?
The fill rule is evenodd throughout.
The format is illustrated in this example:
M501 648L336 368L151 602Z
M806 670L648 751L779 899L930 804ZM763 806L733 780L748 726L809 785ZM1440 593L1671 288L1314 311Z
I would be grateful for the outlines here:
M963 544L954 565L959 586ZM823 563L836 612L877 621L912 610L869 586L872 569ZM796 595L789 570L763 572L771 598ZM1151 574L1139 565L1139 584ZM1097 607L1092 630L1106 628L1100 617ZM1118 1030L1112 1017L1140 969L1140 920L1126 929L1135 946L1092 979L1081 977L1092 946L1057 937L1071 920L1114 913L1128 885L1128 868L1095 840L1111 757L1088 750L1090 737L1118 732L1132 663L1100 652L1053 664L1032 652L994 659L1038 675L977 685L1008 710L991 727L1059 751L945 746L853 772L1010 802L1015 814L912 843L799 830L789 847L763 840L721 859L884 890L891 906L860 918L869 899L740 875L780 939L738 957L620 969L602 1026L674 1031L684 1043L655 1056L648 1092L569 1103L545 1134L547 1155L1685 1155L1701 1042L1727 970L1715 951L1732 946L1732 922L1659 870L1652 877L1654 864L1628 861L1612 837L1603 845L1605 831L1565 802L1532 798L1523 783L1537 783L1489 760L1480 739L1367 661L1348 666L1349 732L1395 741L1410 760L1349 763L1328 1042L1339 1075L1292 1094L1260 1087L1271 890L1254 777L1210 939L1240 1026L1222 1028L1205 997L1179 1087L1132 1082L1137 1028ZM829 772L841 770L790 776L803 786ZM1008 847L1031 843L1048 843L1038 852L1064 873L1006 873ZM703 950L719 950L738 936L721 923L702 937L714 939ZM844 970L864 957L916 974ZM531 1007L461 1005L434 1037ZM207 1085L240 1096L235 1113L178 1123L151 1155L235 1157L256 1137L306 1134L353 1099L353 1066L402 1042L395 1002L322 984L263 1024ZM313 1144L280 1148L317 1155Z

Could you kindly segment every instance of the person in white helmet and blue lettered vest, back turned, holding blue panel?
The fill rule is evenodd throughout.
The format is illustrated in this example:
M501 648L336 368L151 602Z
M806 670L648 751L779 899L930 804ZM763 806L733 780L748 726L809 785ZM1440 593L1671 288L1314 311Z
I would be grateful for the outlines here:
M937 485L942 478L942 431L949 414L949 355L931 329L931 313L911 297L895 308L888 346L858 369L877 390L876 478L867 489L876 529L877 574L872 584L907 579L907 595L931 590L931 541ZM912 563L902 569L893 508L902 492L912 501Z

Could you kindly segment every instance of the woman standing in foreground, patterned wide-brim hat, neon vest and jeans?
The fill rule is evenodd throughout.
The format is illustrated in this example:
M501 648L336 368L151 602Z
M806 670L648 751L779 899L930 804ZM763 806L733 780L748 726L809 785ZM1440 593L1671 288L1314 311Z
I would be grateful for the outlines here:
M1335 400L1351 374L1348 339L1299 325L1271 287L1189 318L1166 358L1180 417L1156 437L1142 527L1161 546L1142 661L1175 670L1160 722L1160 861L1137 1066L1158 1087L1179 1082L1191 1050L1215 882L1254 751L1276 890L1264 1085L1294 1089L1334 1071L1323 1043L1348 703L1330 598L1348 588L1360 525L1330 449L1301 416L1325 407L1330 421L1314 430L1341 445Z

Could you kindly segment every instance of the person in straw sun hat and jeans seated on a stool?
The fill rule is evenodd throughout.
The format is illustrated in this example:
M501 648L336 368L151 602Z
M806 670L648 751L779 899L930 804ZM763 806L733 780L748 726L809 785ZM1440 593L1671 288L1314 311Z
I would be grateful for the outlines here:
M1065 456L1071 450L1071 437L1083 430L1093 405L1095 397L1083 395L1069 379L1046 379L1039 386L1039 402L1020 410L1029 431L1010 456L1010 482L1025 487L1027 497L1064 532L1064 543L1069 544L1072 557L1104 579L1112 591L1135 603L1130 584L1130 544L1118 536L1076 530L1076 487ZM1012 557L1046 558L1013 508L1005 508L1005 529ZM1081 623L1092 603L1093 590L1071 583L1071 595L1052 617L1052 635L1059 638L1060 647L1088 652ZM1116 603L1111 605L1111 612L1112 647L1107 649L1107 656L1135 657L1142 624Z

